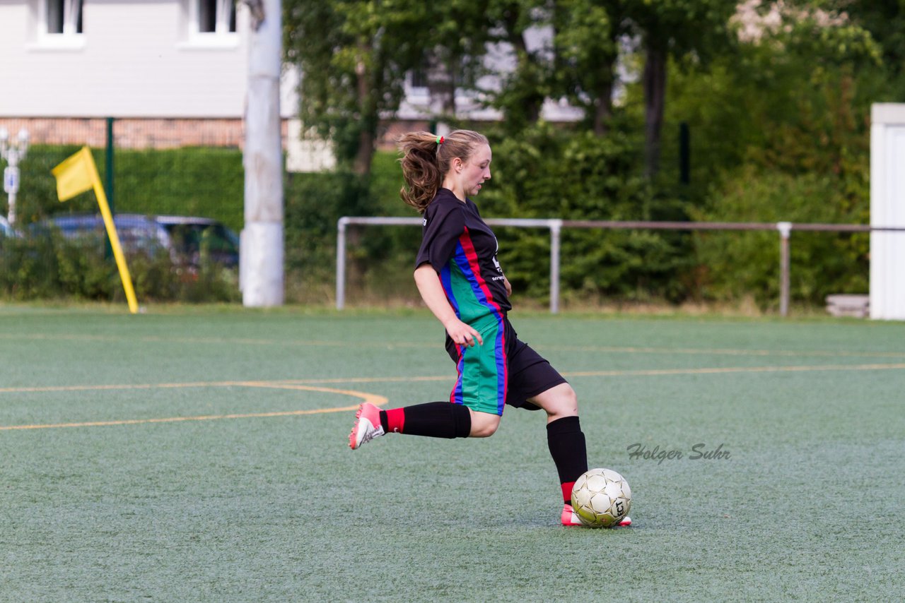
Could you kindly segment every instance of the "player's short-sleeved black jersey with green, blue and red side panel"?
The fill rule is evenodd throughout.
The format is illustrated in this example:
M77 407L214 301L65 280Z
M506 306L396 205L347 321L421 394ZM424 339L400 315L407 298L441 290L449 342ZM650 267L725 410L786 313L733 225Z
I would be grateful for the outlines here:
M430 263L456 316L471 323L505 316L511 309L497 238L481 220L478 206L441 188L424 211L424 233L415 266Z

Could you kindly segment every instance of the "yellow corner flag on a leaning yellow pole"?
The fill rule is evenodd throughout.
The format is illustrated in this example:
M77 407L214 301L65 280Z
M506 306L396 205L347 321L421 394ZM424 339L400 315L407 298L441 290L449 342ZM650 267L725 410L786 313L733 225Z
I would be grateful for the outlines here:
M129 302L129 312L138 312L138 300L135 298L135 290L132 288L132 277L129 275L129 267L126 266L126 257L122 254L122 246L119 245L119 235L116 225L113 223L113 214L110 213L110 205L107 203L107 194L100 184L98 167L94 165L94 157L87 146L71 157L67 157L60 165L52 169L52 174L57 179L57 196L60 201L68 201L77 194L87 193L92 188L98 198L100 215L104 218L107 227L107 236L110 237L110 248L119 268L119 278L122 280L122 288L126 291L126 300Z

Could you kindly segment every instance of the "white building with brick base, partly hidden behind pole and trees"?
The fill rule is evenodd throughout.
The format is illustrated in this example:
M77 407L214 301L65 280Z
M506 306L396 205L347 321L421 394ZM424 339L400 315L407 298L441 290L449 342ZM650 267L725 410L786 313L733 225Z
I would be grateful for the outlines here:
M247 5L234 0L0 0L0 126L28 129L33 144L104 146L104 118L112 117L117 146L241 147L250 19ZM487 61L491 71L505 71L511 53L491 49ZM298 142L298 80L285 70L281 117L290 167L329 167L327 146ZM385 142L427 127L436 113L417 78L405 90L397 114L386 116ZM460 118L500 118L468 91L455 104ZM548 102L544 117L578 114Z

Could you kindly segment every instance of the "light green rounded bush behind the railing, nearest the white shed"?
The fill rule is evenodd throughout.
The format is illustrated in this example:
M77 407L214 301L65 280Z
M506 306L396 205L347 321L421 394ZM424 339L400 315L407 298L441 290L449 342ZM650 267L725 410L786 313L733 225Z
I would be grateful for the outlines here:
M710 221L853 223L861 207L840 190L834 175L764 174L748 167L729 180L719 204L700 212ZM779 297L779 235L776 231L698 234L698 259L706 267L701 295L709 300L752 296L761 307ZM867 233L792 231L790 296L822 304L831 293L868 290Z

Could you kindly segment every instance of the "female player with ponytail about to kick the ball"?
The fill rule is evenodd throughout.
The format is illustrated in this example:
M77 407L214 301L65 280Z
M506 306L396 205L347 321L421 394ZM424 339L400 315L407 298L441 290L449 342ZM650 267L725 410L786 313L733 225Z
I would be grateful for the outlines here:
M355 450L386 433L487 438L509 404L547 413L547 441L562 487L563 525L580 525L572 485L587 471L585 435L572 387L510 325L512 287L497 261L497 240L469 197L491 178L491 146L472 130L445 137L413 132L399 140L405 203L424 214L414 281L446 329L458 378L449 401L380 410L368 402L349 435ZM452 402L452 403L450 403ZM626 517L622 524L631 520Z

